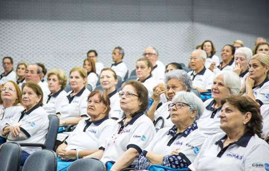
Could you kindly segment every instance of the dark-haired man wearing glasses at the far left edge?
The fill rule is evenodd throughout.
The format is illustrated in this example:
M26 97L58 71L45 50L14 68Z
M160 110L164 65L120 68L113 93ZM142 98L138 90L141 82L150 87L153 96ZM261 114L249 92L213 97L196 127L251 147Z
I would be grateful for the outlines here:
M13 59L11 57L4 57L2 65L4 72L0 75L0 85L3 85L9 80L16 83L16 72L13 71Z

